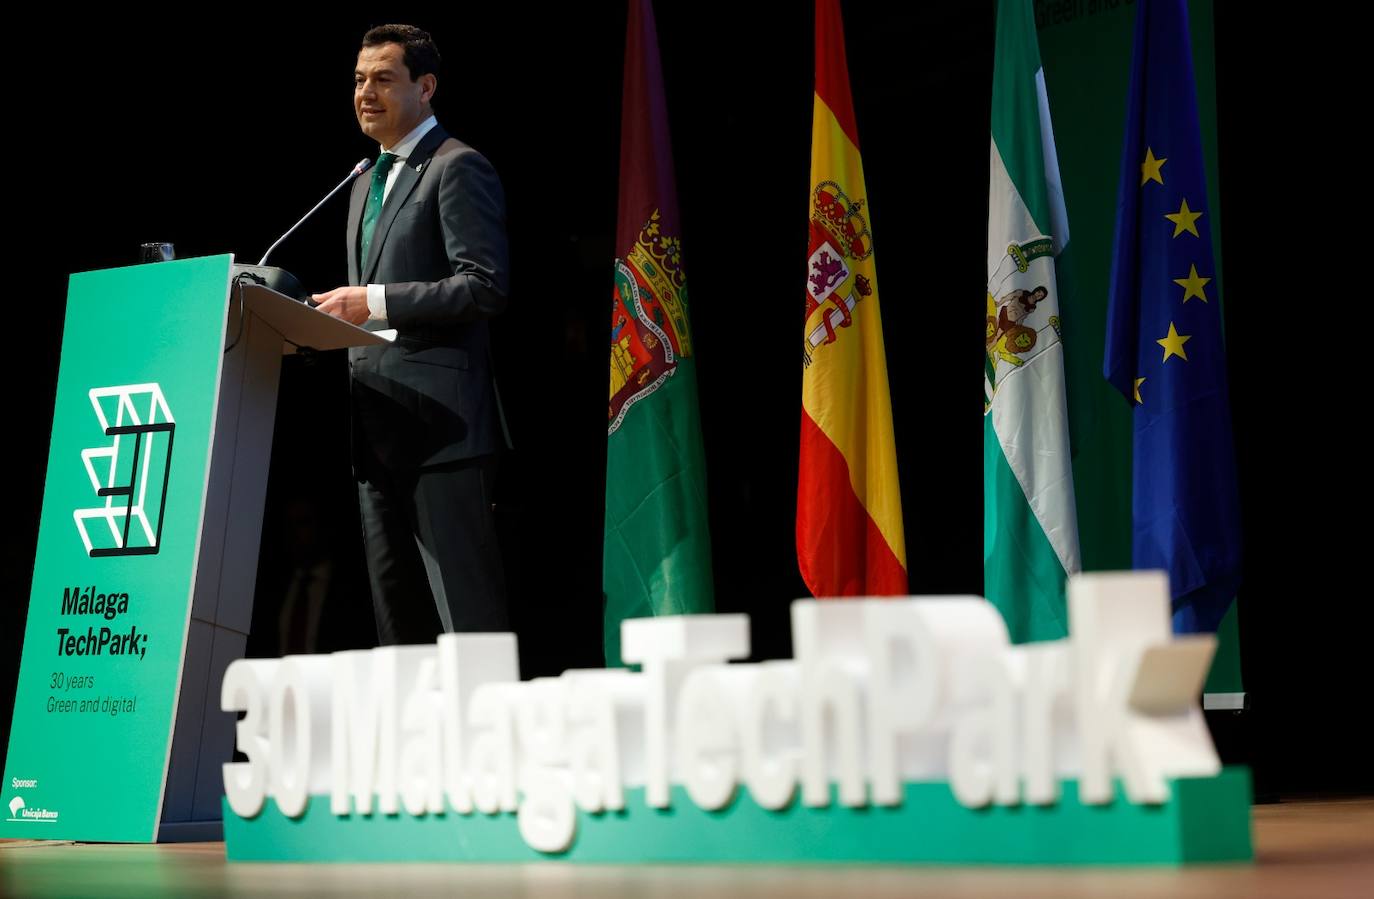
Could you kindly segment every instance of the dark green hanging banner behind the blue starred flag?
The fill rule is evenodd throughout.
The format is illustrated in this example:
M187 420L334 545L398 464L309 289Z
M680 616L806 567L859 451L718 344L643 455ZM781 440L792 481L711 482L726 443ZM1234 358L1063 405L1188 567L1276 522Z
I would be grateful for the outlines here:
M1212 0L1189 4L1198 118L1212 212L1216 289L1223 293L1220 172L1216 153L1216 58ZM1073 242L1073 290L1065 290L1069 441L1084 570L1131 568L1131 407L1102 377L1117 179L1131 81L1134 3L1036 3L1040 56L1054 117ZM1241 693L1235 606L1217 632L1208 693Z

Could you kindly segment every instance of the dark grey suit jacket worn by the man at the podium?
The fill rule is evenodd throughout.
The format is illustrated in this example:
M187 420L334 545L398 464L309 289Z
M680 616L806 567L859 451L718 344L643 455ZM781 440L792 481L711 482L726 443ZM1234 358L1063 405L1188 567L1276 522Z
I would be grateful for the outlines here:
M456 462L500 445L486 320L506 307L506 201L480 153L434 126L401 164L367 260L368 177L348 214L349 285L386 285L392 346L349 351L354 466ZM368 327L381 327L371 322Z

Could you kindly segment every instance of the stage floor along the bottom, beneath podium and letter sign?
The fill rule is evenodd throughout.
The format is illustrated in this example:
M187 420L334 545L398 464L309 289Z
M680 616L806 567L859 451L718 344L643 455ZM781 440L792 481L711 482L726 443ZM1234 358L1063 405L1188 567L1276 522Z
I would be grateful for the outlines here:
M1189 869L228 865L223 843L0 841L0 896L1374 896L1374 799L1254 808L1254 865Z

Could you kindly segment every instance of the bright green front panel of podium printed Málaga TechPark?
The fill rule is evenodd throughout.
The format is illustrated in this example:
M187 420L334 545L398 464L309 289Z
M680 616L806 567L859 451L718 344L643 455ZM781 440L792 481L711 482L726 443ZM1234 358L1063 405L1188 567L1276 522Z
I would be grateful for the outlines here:
M157 834L231 263L71 276L0 837Z

